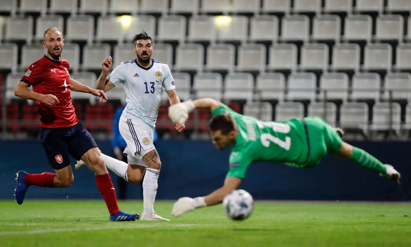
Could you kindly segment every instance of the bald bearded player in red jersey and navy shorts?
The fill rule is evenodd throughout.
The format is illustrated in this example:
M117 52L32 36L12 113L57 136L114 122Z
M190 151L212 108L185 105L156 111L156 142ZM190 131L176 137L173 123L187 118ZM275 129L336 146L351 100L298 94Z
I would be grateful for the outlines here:
M99 189L110 213L111 221L134 221L140 216L123 213L117 205L116 191L100 156L100 150L90 133L74 114L70 91L89 93L107 100L102 90L91 89L70 78L67 60L61 58L64 40L61 31L49 27L44 31L43 46L47 54L31 64L14 89L24 99L36 100L40 113L40 139L48 162L55 173L28 174L18 171L15 197L22 204L30 185L68 187L74 180L68 154L83 160L96 175ZM28 87L33 86L33 91Z

